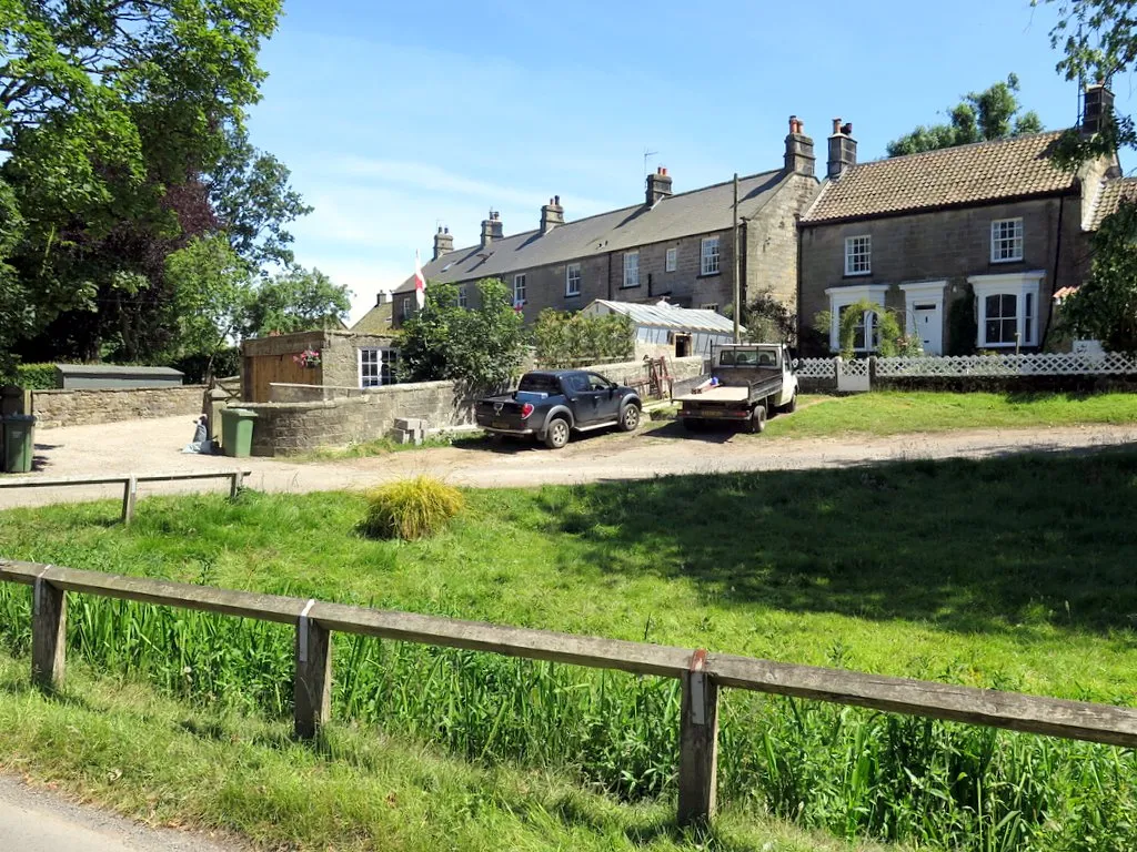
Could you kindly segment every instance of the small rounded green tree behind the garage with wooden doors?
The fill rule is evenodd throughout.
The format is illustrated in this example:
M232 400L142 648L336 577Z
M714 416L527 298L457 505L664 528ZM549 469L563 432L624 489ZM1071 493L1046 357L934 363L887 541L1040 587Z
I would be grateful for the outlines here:
M257 286L249 302L244 335L290 334L322 328L351 310L351 291L319 269L292 267Z

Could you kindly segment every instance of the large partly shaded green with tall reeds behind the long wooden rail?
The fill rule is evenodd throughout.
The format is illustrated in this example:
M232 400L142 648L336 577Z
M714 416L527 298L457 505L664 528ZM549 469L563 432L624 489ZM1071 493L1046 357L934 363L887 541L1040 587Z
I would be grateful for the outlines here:
M246 493L146 500L130 529L110 503L7 512L0 552L1112 703L1137 684L1137 453L466 496L409 544L355 535L359 496ZM23 652L28 591L0 594ZM73 607L74 658L199 708L289 712L285 627ZM348 636L335 659L339 719L630 801L674 794L672 682ZM721 728L731 808L977 852L1137 844L1130 752L732 691Z

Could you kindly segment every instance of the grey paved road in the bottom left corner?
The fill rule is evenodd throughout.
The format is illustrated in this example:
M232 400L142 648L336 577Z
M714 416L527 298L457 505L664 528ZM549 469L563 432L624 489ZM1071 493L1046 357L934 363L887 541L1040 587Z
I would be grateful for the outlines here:
M235 852L235 845L153 829L0 775L0 850L8 852Z

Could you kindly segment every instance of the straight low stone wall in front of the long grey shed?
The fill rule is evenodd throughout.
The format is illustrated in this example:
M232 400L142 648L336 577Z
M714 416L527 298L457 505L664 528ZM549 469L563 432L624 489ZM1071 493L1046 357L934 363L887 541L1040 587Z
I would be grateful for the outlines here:
M182 385L33 391L32 414L40 428L196 415L201 411L205 390L202 385Z

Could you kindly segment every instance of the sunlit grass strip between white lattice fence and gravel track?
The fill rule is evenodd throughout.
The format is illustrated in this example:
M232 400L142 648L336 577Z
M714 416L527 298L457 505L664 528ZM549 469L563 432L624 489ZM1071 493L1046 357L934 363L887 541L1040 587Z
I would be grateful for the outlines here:
M766 434L825 437L843 433L1028 428L1137 421L1137 394L939 393L880 391L852 396L803 395L800 410L775 417Z

